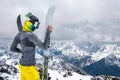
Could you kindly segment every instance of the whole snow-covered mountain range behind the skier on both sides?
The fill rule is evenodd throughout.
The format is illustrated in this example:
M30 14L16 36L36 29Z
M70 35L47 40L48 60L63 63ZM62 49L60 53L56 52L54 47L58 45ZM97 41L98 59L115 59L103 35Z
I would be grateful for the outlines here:
M17 63L21 57L21 54L10 52L10 43L11 40L0 39L0 65L12 65L13 68L16 68L18 70ZM38 48L36 49L36 52L41 54L36 54L36 62L42 64L44 60L42 55L44 54L44 52L43 50ZM102 68L100 68L100 66L102 66ZM97 73L95 67L96 69L98 69ZM102 70L103 68L106 69L106 67L108 71ZM115 69L110 70L113 67ZM86 74L86 72L88 72L92 75L105 75L107 73L111 73L108 75L119 76L116 74L112 74L112 71L120 73L120 42L53 41L51 42L50 48L49 68L51 76L53 72L60 73L62 71L66 72L68 70L72 71L73 74ZM82 69L84 69L86 72L84 72ZM5 74L2 75L4 75L5 77ZM19 78L18 75L19 72L13 74L13 77L16 77L14 78L15 80ZM63 75L63 73L57 74L56 76L59 76L61 78L63 77L61 75ZM7 76L9 77L9 75ZM76 75L74 75L74 77L75 76ZM68 78L68 80L73 80L74 77L72 77L71 79ZM91 78L90 76L86 77L88 78L88 80L90 80ZM67 78L65 78L65 80L67 80Z

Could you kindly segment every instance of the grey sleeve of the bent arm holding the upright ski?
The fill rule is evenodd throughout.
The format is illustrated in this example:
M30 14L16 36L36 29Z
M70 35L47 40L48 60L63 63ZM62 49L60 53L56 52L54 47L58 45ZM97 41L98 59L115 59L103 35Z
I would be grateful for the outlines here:
M29 36L29 40L33 42L39 48L46 50L48 49L49 44L50 44L50 33L51 31L47 30L44 42L42 42L35 34Z

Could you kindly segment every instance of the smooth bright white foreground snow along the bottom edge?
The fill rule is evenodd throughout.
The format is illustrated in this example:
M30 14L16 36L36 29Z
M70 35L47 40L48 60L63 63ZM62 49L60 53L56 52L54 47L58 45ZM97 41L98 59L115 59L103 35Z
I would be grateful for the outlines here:
M50 73L51 80L91 80L92 76L85 76L85 75L80 75L77 73L72 73L73 76L68 76L68 77L63 77L63 73L59 74L58 71L53 71L53 70L48 70ZM1 74L5 78L5 76L8 76L8 80L20 80L20 73L17 73L16 75L9 75L6 73Z

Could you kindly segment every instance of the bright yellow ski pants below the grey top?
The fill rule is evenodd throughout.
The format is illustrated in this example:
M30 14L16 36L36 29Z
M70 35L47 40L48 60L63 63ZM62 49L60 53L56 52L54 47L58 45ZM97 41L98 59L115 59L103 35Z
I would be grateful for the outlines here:
M40 80L36 66L22 66L18 64L20 69L20 80Z

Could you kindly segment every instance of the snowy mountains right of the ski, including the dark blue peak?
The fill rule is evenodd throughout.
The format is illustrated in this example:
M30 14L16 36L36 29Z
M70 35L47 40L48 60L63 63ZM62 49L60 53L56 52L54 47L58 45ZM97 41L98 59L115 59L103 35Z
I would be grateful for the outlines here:
M86 69L87 67L89 74L120 75L113 74L113 72L120 73L120 42L60 41L53 42L51 50L53 50L51 53L59 53L60 58L77 68ZM96 65L101 61L101 64ZM105 66L99 68L103 63ZM99 71L106 67L108 71L96 71L94 67L90 67L93 64ZM112 66L115 66L115 69L111 69Z

